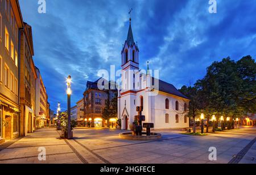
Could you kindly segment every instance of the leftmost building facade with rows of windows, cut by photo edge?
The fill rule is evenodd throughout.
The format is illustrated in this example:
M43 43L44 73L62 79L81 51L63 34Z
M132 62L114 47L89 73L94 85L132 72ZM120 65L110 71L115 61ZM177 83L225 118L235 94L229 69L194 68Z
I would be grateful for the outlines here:
M0 143L19 136L19 29L23 19L18 1L0 1Z

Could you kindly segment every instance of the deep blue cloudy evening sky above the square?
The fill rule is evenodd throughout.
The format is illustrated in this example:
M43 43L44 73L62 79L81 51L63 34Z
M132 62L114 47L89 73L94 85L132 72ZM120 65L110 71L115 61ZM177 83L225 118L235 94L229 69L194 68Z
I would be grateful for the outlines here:
M140 67L160 70L160 79L177 88L203 78L213 61L230 56L256 57L256 1L217 0L19 0L23 19L32 25L35 65L42 73L51 109L66 108L65 78L72 75L72 104L82 98L87 80L97 71L117 69L133 8L134 40Z

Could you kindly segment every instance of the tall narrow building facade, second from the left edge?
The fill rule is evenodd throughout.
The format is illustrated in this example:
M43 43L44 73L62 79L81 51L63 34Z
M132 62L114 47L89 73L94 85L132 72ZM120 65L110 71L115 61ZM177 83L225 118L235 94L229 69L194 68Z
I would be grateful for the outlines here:
M20 31L20 135L26 136L34 131L34 110L32 109L31 86L34 75L31 65L34 56L32 40L32 28L27 23L23 23Z

